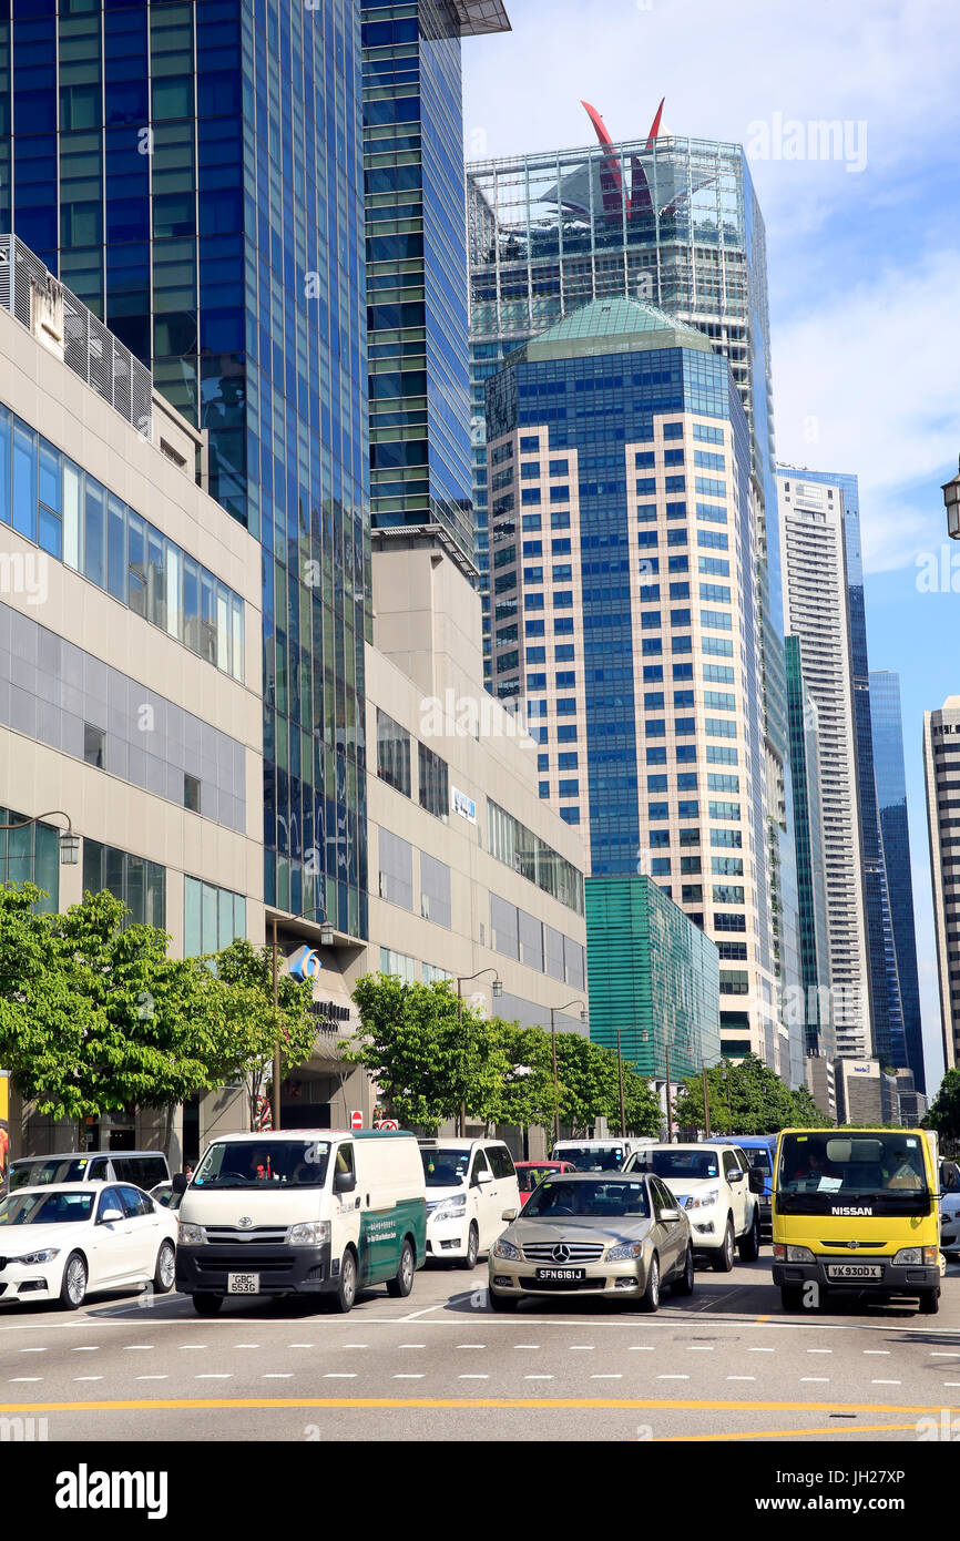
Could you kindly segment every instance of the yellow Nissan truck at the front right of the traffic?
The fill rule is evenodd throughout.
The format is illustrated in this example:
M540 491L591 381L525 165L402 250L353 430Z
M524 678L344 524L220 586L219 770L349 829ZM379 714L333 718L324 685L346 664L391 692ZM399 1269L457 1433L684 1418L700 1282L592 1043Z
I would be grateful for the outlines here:
M783 1130L774 1162L774 1284L786 1311L827 1291L940 1310L940 1182L923 1130Z

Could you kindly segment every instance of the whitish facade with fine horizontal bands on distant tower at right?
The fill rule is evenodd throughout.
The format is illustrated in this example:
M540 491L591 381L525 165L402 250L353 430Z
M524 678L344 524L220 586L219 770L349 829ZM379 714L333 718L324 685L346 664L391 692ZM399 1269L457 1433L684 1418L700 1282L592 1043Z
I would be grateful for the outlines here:
M780 467L786 635L820 720L820 792L834 1023L840 1054L872 1051L871 986L857 817L857 727L843 492Z

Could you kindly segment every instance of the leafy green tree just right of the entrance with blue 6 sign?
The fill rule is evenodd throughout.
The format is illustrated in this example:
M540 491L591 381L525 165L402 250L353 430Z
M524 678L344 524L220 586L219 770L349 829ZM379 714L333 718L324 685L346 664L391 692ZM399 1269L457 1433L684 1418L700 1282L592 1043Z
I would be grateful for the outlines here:
M431 1134L461 1106L484 1123L496 1117L510 1069L499 1028L467 1005L461 1016L448 980L365 974L353 1000L361 1031L348 1059L367 1066L393 1117Z

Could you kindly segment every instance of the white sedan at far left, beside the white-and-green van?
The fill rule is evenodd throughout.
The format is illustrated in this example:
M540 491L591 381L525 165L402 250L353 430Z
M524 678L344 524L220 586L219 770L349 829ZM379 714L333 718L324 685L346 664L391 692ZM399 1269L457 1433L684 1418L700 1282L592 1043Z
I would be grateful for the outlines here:
M46 1183L0 1200L0 1305L59 1301L76 1311L92 1290L176 1277L177 1217L126 1183Z

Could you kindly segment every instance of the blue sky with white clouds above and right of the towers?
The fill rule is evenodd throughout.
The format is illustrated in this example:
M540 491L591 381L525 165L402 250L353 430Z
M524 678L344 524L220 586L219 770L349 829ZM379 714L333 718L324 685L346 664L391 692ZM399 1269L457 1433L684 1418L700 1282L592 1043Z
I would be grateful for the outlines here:
M505 0L464 43L468 159L661 133L744 145L767 233L778 459L860 478L871 669L900 673L928 1089L943 1071L923 712L960 693L955 0ZM843 133L821 148L809 125ZM801 154L798 154L801 151ZM946 552L942 556L942 547ZM948 578L928 579L931 553ZM954 589L949 584L955 586Z

